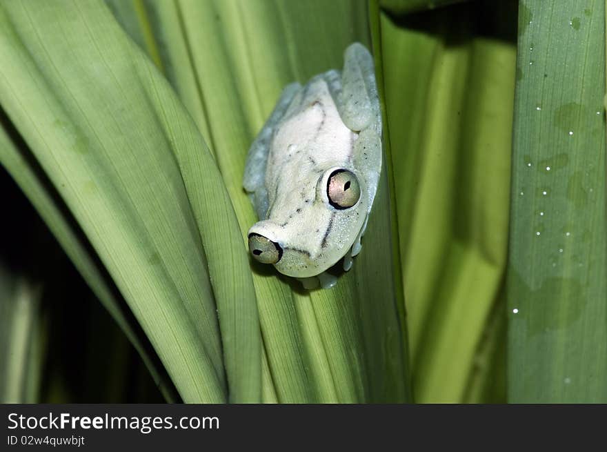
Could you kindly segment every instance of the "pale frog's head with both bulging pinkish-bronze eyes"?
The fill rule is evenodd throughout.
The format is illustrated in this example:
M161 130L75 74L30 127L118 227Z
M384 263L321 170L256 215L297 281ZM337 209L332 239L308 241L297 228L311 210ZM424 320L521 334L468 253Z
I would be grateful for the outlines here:
M268 219L250 228L250 254L284 275L318 275L350 250L368 213L367 198L355 170L332 166L309 190L290 190L280 200L287 212L270 208Z

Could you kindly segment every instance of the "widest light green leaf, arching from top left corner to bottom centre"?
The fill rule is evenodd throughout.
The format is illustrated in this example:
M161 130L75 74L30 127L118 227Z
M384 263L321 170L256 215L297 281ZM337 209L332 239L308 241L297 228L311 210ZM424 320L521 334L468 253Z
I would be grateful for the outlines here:
M234 286L217 286L217 279L227 279L219 265L238 268L238 262L247 263L246 254L223 244L222 261L220 244L209 243L221 233L239 232L217 184L219 173L188 115L104 6L3 7L0 59L10 64L1 72L1 104L88 234L183 399L226 398L208 273L218 307L221 297L228 302L221 324L228 333L226 367L236 377L230 384L243 376L255 382L259 354L252 353L255 367L240 378L236 357L230 360L230 333L238 332L241 319L230 316L233 300L225 299L242 284L246 289L247 274L237 273L243 277ZM213 259L209 271L205 254ZM250 290L241 295L254 301ZM257 329L248 331L256 334L237 342L255 352ZM259 390L243 395L255 399Z

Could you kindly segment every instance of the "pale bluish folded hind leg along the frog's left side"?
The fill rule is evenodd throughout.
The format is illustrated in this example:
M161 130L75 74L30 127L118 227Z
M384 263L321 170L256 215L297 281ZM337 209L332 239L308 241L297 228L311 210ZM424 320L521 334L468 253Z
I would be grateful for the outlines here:
M274 130L284 117L291 101L301 91L299 83L291 83L282 92L272 114L263 125L259 135L251 144L244 168L243 187L249 194L259 219L265 219L268 212L268 191L266 190L266 165L270 152L270 141Z

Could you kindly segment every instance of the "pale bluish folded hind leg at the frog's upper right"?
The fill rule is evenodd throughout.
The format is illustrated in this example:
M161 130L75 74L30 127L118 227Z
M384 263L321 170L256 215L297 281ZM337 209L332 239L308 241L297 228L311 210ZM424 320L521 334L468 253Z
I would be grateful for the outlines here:
M330 70L324 78L344 124L357 132L372 127L379 135L381 114L375 68L373 57L365 46L357 42L348 46L341 75Z

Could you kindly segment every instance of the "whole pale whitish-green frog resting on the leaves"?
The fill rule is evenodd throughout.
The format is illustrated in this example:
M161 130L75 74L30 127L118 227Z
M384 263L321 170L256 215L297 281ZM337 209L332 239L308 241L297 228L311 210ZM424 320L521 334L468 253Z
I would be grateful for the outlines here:
M252 259L304 288L330 288L361 251L381 173L381 110L373 58L361 43L343 70L290 83L252 142L243 188L259 221Z

